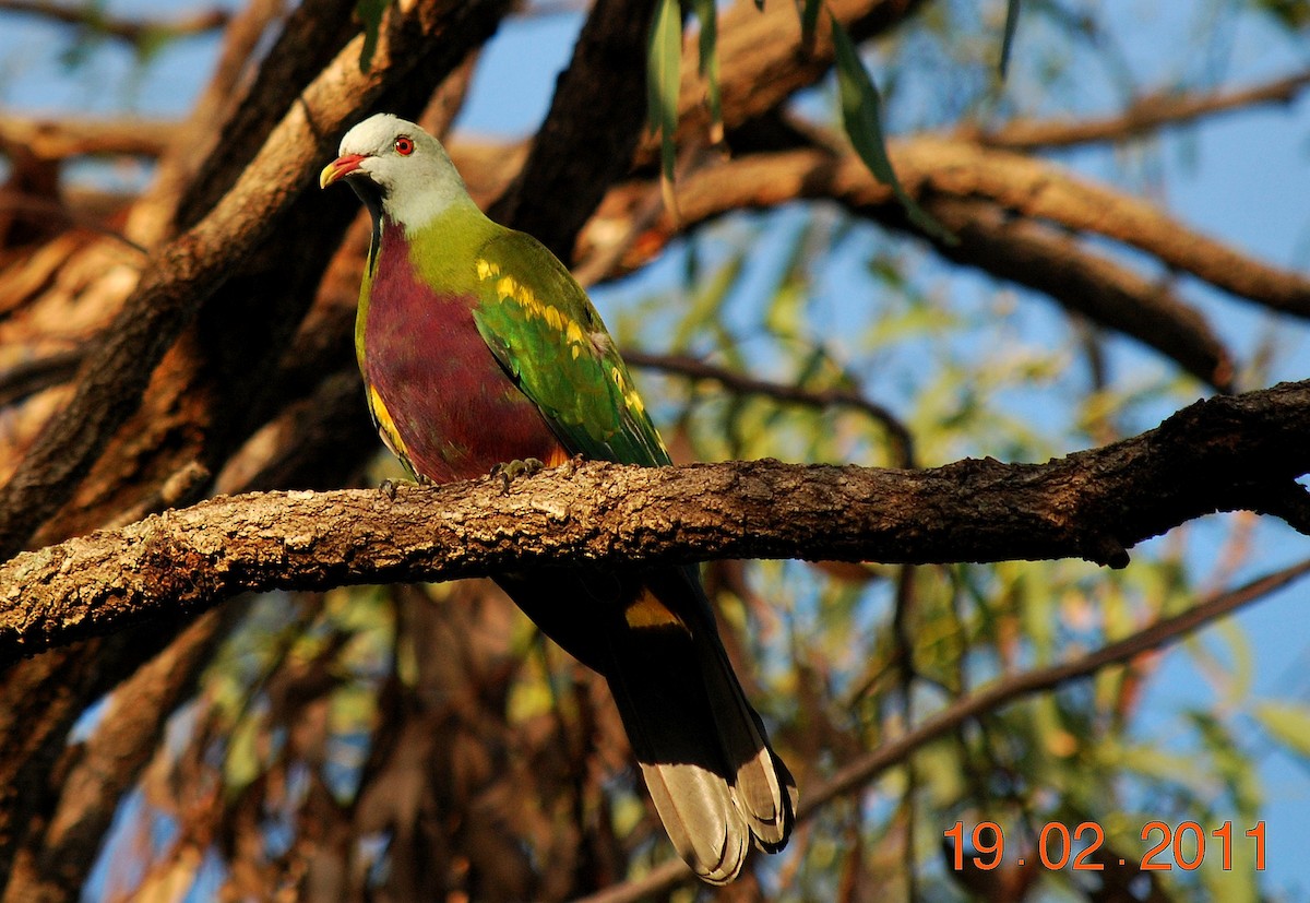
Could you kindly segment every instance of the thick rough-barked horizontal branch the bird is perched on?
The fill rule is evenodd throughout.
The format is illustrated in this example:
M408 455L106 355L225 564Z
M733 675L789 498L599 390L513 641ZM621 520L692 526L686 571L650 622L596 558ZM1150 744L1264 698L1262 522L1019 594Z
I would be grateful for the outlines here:
M244 590L441 581L508 567L717 557L947 562L1083 557L1193 518L1265 510L1310 472L1310 381L1200 401L1047 464L930 471L736 461L570 465L439 489L220 497L0 566L0 659ZM1298 489L1300 491L1300 489Z

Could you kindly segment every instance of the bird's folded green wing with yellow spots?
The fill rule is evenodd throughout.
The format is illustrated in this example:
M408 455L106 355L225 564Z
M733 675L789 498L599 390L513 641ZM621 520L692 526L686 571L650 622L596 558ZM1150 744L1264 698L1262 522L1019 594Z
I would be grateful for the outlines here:
M621 464L669 464L605 324L555 256L506 229L474 266L478 332L565 447Z

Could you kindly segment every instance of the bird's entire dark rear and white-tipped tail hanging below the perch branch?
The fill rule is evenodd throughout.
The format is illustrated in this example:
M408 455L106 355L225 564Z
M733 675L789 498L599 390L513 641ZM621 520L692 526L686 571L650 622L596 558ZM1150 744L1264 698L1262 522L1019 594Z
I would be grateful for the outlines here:
M786 845L796 784L732 672L693 570L496 579L546 634L605 675L655 811L697 875L726 885L752 843L769 853Z

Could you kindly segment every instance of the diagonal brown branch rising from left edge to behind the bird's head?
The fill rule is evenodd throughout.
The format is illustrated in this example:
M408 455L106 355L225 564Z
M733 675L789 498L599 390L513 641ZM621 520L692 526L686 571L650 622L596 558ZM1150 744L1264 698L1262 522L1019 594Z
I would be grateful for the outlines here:
M394 10L393 10L394 12ZM359 71L351 41L293 104L240 180L195 227L161 248L114 326L88 358L77 393L42 431L0 490L0 554L21 548L54 514L136 410L152 367L232 267L313 183L360 104L417 64L419 48L470 13L465 4L419 4L392 20L373 68Z

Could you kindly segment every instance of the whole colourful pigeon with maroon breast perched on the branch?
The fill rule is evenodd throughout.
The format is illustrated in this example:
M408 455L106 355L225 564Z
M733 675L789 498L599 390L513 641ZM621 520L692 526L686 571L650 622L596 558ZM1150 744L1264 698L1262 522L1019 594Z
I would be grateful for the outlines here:
M440 142L375 115L318 178L338 181L373 219L355 322L368 406L415 478L575 455L669 464L587 294L536 239L478 210ZM496 581L605 676L655 809L696 874L732 881L752 839L782 849L795 782L732 674L693 567Z

